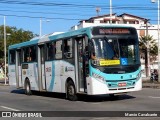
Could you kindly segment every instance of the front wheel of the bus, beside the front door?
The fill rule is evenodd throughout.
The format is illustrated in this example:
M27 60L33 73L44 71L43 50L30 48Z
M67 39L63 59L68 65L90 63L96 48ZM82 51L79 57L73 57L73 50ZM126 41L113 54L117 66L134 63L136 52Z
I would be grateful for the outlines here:
M77 100L76 89L74 83L71 80L68 81L66 90L67 90L66 91L67 99L71 101L76 101Z

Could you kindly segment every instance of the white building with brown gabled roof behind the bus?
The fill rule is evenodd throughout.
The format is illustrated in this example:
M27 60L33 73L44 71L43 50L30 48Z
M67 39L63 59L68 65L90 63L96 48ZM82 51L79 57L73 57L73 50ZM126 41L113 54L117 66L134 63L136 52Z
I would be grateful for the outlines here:
M112 22L110 22L112 21ZM75 25L71 27L71 30L77 30L80 28L84 27L89 27L89 26L98 26L98 25L106 25L106 24L123 24L126 26L132 26L137 29L137 33L140 36L145 36L145 35L151 35L153 36L153 39L155 39L158 42L158 25L152 25L149 22L149 19L123 13L121 15L117 15L116 13L112 14L110 17L110 14L107 15L102 15L102 16L96 16L96 17L91 17L86 20L81 20L79 21L78 25ZM145 71L145 65L144 65L144 59L141 59L142 63L142 69ZM154 61L150 65L151 69L158 69L158 64L157 61ZM145 77L145 72L143 74Z

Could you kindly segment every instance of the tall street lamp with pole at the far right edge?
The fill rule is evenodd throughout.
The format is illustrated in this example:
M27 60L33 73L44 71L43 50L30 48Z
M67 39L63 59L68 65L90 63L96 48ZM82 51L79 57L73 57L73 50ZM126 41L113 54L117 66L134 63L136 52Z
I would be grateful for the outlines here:
M152 3L155 3L156 0L151 0ZM158 78L158 81L160 81L160 39L159 39L159 0L157 0L158 2L158 75L159 75L159 78Z

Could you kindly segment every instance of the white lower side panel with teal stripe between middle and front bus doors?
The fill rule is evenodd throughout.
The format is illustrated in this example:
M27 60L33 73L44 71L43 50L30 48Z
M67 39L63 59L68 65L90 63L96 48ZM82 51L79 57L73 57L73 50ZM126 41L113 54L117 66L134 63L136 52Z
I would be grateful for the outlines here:
M46 86L49 92L65 93L66 80L75 82L74 66L63 60L45 62Z

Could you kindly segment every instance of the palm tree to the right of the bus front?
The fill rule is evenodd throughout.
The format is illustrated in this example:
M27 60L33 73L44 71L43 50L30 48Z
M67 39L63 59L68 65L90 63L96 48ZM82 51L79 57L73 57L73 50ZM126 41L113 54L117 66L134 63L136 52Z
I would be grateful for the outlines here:
M147 44L149 44L147 49ZM151 62L154 62L157 60L158 55L158 46L156 43L156 40L153 39L153 36L146 35L141 36L139 39L139 48L140 48L140 56L141 58L145 58L145 67L146 67L146 76L149 75L149 69L148 69L148 57ZM149 55L147 54L149 52Z

